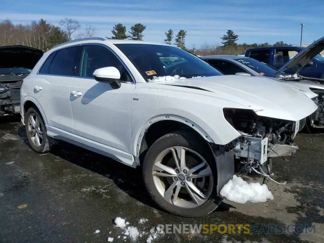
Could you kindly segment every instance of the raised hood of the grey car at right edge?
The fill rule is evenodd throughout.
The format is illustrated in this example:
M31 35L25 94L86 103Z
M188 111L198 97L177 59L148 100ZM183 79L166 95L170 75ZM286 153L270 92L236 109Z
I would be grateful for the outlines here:
M324 37L318 39L310 44L304 51L298 52L290 61L284 64L277 72L277 77L280 72L288 68L293 68L295 73L298 74L306 64L315 57L319 52L324 50Z

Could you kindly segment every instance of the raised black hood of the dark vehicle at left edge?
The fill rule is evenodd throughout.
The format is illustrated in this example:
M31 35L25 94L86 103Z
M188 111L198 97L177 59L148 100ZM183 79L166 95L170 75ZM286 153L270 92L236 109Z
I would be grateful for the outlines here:
M0 68L22 67L33 69L44 52L28 46L1 46Z

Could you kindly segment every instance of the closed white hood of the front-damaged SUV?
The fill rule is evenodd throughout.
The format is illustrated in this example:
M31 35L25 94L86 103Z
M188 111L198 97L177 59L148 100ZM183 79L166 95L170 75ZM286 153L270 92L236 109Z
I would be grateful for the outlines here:
M304 92L263 77L220 75L156 83L210 91L204 92L204 95L230 104L224 108L250 109L260 116L289 121L299 121L317 109L316 104Z

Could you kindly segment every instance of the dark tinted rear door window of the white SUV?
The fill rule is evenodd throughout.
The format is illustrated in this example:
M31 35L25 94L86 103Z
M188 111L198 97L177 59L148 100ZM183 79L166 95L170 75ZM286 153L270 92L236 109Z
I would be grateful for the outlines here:
M75 66L81 46L73 46L58 50L50 65L49 74L75 76Z

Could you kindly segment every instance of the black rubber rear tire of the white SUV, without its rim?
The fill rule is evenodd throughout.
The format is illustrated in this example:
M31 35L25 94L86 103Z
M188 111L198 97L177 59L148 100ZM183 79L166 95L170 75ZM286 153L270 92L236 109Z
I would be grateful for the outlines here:
M28 118L29 118L30 114L32 114L32 113L34 113L34 114L36 114L36 116L38 116L38 118L40 119L40 123L41 123L41 131L43 133L43 141L42 141L40 147L36 147L33 144L33 142L30 139L29 132L28 132ZM26 128L27 138L28 138L29 144L32 147L32 149L35 150L37 153L50 152L52 150L52 148L57 144L57 141L54 138L47 136L45 122L44 122L43 117L41 116L39 110L34 107L29 108L25 114L24 120L25 120L25 128Z

